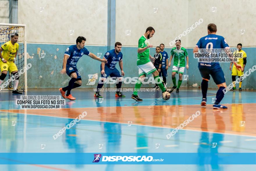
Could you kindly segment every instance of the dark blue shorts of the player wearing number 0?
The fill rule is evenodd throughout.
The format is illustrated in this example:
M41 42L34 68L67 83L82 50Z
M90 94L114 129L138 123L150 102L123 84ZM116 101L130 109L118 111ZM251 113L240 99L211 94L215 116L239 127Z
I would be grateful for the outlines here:
M221 67L208 69L208 68L199 68L200 74L203 78L210 80L210 75L216 85L226 82L223 70Z

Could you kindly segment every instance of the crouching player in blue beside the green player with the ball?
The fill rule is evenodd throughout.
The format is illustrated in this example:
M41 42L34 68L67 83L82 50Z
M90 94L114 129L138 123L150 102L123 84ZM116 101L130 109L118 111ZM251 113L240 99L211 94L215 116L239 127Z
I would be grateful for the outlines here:
M99 94L100 89L103 87L104 82L106 81L107 77L114 77L116 79L116 88L117 91L115 93L115 97L125 97L122 92L120 92L122 86L122 76L125 75L123 71L123 54L121 52L122 44L120 42L115 43L115 49L109 50L105 53L104 59L108 61L107 64L104 62L101 63L100 70L101 70L101 80L98 82L97 91L94 94L94 97L101 98L102 96ZM115 65L119 63L121 73L115 68Z

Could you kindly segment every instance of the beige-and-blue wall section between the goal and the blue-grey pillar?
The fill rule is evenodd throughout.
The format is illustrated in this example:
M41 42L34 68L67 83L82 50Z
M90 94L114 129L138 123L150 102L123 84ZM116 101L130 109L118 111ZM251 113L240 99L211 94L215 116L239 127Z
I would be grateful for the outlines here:
M56 88L68 77L60 74L63 54L76 44L78 36L86 37L90 52L106 52L107 0L19 0L19 24L27 26L28 88ZM100 20L99 20L100 19ZM89 45L89 46L88 46ZM88 74L99 70L99 61L88 56L79 60L84 82ZM66 85L67 83L65 83ZM84 84L85 85L85 84Z

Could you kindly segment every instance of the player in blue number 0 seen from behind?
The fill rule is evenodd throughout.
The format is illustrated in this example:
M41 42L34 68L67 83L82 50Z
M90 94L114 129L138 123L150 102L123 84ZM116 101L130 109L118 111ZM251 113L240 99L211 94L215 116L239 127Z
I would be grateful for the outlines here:
M208 35L200 38L198 43L195 45L193 53L198 52L198 49L200 48L213 48L213 49L220 49L220 48L229 48L226 40L224 37L216 35L217 27L215 24L208 24ZM241 69L241 66L234 62L234 65L237 67L237 69ZM221 105L220 102L224 97L223 89L227 87L225 77L223 70L221 69L221 66L218 62L199 62L198 68L200 71L200 74L202 76L202 83L201 83L201 89L202 89L202 102L201 106L206 106L206 95L207 95L207 89L208 89L208 81L210 80L210 75L213 78L214 82L218 86L218 91L216 93L216 101L213 105L214 109L227 109L226 106Z

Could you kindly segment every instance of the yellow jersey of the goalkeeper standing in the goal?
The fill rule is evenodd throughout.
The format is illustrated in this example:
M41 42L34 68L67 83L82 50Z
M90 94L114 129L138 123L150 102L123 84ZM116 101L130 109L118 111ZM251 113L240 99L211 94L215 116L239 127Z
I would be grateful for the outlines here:
M12 44L11 40L1 46L2 56L6 61L13 62L16 52L19 50L19 44Z

